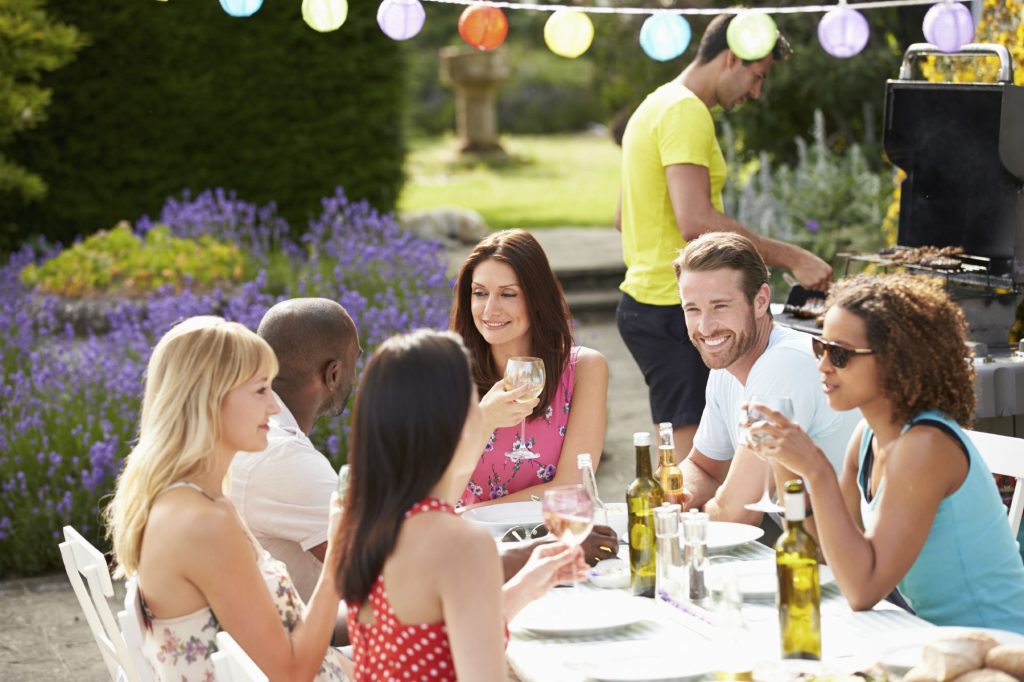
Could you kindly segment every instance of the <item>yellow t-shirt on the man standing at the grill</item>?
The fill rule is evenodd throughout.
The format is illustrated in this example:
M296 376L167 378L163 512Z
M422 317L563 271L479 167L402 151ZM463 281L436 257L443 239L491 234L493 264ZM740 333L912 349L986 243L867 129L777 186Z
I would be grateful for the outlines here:
M624 292L650 305L679 305L672 261L686 242L669 199L665 167L708 168L711 203L722 207L725 158L705 103L678 82L647 95L630 117L623 137ZM723 211L724 212L724 211Z

